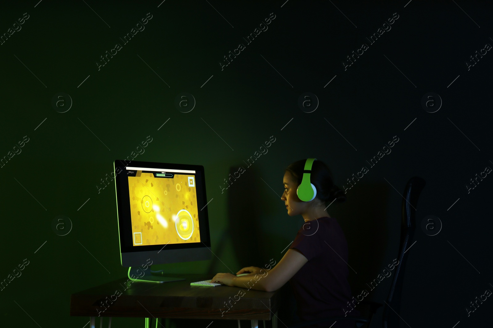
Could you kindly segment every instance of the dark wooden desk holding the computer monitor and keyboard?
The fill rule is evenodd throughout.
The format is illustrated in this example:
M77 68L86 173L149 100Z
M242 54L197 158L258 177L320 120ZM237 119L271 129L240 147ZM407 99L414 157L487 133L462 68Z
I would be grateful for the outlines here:
M281 304L281 289L262 292L225 285L190 286L191 282L211 279L211 275L166 276L185 280L151 283L121 278L72 294L70 316L91 317L90 328L94 328L98 316L251 320L252 328L258 327L258 320L272 320L272 327L277 328L277 314L274 314ZM239 294L239 291L243 292Z

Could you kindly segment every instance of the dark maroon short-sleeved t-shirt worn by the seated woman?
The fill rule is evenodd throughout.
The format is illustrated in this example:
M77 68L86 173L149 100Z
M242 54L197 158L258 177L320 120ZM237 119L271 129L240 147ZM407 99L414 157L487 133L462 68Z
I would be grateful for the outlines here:
M333 217L307 221L289 248L296 248L308 262L289 279L301 321L345 316L350 309L351 287L348 283L348 243ZM348 316L359 316L353 309ZM310 327L329 327L333 322ZM354 327L352 320L338 320L332 328Z

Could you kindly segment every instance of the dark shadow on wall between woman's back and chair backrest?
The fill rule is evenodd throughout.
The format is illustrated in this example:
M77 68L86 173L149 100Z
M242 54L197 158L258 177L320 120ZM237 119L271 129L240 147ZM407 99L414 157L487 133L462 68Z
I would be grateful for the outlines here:
M348 263L357 272L349 268L353 296L368 289L366 283L382 272L388 237L388 191L385 183L358 182L356 188L348 190L345 203L337 204L334 210L330 209L332 205L327 209L330 216L337 219L348 241ZM396 216L395 220L400 222L400 217ZM394 233L400 236L400 230Z

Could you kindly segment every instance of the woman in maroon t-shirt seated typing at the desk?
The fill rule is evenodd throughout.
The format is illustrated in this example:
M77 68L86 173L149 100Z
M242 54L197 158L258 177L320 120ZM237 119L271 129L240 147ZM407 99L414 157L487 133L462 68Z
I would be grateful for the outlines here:
M351 309L348 302L352 298L348 283L348 244L337 220L327 212L333 201L344 202L346 196L334 184L327 165L315 160L310 175L310 182L317 191L315 198L311 201L300 200L297 189L303 179L306 161L299 160L285 169L281 199L286 205L287 214L301 215L305 224L281 261L268 270L242 268L237 274L250 273L239 277L231 273L217 273L211 281L268 292L278 290L289 281L302 322L329 316L359 316L356 309L348 312ZM252 275L256 279L252 279ZM335 324L328 321L309 327L352 328L354 321L338 320Z

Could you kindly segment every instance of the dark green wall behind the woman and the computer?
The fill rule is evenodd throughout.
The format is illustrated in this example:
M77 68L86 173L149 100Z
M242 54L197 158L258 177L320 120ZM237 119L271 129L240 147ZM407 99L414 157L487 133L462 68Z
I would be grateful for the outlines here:
M328 209L348 240L353 295L396 257L401 194L408 179L420 176L426 187L417 219L436 215L443 228L436 236L417 228L401 316L412 327L458 321L473 327L486 320L491 305L469 317L465 307L493 289L485 261L492 251L493 178L469 193L465 185L493 165L493 55L469 70L466 64L493 44L488 2L160 2L0 5L0 33L29 15L0 45L0 156L29 138L0 169L0 279L29 260L0 291L2 327L83 327L88 318L69 316L70 294L126 275L114 187L98 192L97 185L115 159L147 136L152 142L136 160L204 165L213 198L212 251L222 261L161 269L211 277L227 272L224 264L235 270L282 258L303 224L280 200L288 164L317 157L342 187L397 136L391 153L347 191L348 201ZM147 13L152 19L145 30L98 70L100 56L123 44L119 38ZM276 18L268 30L221 70L223 56L246 44L243 37L271 13ZM399 18L391 30L345 70L346 57L393 13ZM73 101L65 113L51 104L59 92ZM176 108L180 92L193 94L191 112ZM317 95L316 111L298 107L304 92ZM427 92L440 95L439 111L421 106ZM268 153L221 193L223 179L271 136L276 141ZM52 230L57 215L73 224L66 236ZM368 298L383 303L389 286L387 278ZM372 327L379 320L381 312ZM112 327L140 324L114 319Z

